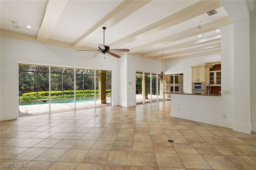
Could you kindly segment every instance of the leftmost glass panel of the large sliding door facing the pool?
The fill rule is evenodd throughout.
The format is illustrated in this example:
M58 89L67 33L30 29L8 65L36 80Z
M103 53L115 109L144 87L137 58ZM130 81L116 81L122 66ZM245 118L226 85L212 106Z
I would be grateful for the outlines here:
M49 113L49 67L19 64L19 116Z

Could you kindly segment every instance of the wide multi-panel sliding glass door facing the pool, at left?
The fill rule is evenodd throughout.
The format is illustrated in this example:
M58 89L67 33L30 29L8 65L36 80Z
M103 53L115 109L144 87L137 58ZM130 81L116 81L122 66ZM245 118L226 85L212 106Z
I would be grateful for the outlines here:
M112 71L18 65L19 116L111 105Z

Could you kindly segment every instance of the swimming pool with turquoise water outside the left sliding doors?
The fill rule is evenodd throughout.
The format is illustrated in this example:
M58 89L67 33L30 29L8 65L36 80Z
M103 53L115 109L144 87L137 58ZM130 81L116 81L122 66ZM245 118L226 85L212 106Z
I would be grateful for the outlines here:
M106 101L110 101L111 98L106 98ZM94 101L94 97L88 97L84 99L76 99L76 103L85 103L85 102L92 102ZM96 101L98 101L98 97L96 97ZM38 104L48 104L49 100L40 100L40 101L30 101L30 102L22 102L19 103L19 106L22 105L38 105ZM51 103L74 103L74 98L68 99L52 99Z

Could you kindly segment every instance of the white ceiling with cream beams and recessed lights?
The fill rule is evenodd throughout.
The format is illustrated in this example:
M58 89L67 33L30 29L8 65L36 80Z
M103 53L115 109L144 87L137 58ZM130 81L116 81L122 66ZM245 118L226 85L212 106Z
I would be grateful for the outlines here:
M220 53L217 29L232 23L218 0L1 0L0 28L74 49L130 49L150 59ZM208 16L206 12L218 13ZM202 28L197 25L201 22ZM14 30L13 23L20 26ZM32 28L26 28L29 25ZM202 37L198 35L203 34Z

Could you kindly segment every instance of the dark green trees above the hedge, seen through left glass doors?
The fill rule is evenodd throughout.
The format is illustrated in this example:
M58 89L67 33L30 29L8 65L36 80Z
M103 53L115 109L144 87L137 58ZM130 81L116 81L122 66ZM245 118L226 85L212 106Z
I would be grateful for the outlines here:
M74 91L74 75L76 90L98 89L98 70L94 85L94 70L64 67L51 67L51 91ZM106 89L111 89L111 71L106 71ZM41 65L19 64L19 96L27 92L49 91L49 67Z

